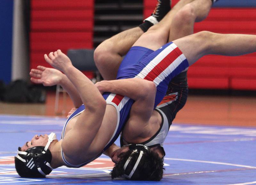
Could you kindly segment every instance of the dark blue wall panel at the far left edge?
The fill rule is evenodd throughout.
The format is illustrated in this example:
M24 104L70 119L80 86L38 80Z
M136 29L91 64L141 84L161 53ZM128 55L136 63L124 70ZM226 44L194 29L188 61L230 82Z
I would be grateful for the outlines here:
M11 81L13 0L0 0L0 80Z

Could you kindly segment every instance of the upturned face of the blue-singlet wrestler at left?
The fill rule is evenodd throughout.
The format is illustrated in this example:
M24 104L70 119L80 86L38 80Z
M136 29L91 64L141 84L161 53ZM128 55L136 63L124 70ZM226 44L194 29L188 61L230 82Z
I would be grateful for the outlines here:
M26 151L31 147L35 146L45 146L48 142L48 135L35 135L31 141L26 142L22 147L21 151Z

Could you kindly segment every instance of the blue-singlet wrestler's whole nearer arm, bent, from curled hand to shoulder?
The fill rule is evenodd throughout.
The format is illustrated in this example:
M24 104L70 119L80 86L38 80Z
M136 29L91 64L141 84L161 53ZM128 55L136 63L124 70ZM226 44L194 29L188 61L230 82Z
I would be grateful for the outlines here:
M62 150L68 158L74 158L80 152L86 154L102 123L106 101L92 81L76 69L60 50L51 52L49 56L45 54L44 58L55 69L66 74L85 105L85 110L77 118L74 127L66 133L61 144Z

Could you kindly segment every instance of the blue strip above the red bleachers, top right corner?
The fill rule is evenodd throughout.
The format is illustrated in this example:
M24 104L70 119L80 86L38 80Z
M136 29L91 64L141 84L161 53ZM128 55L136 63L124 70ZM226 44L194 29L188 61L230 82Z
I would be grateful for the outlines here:
M256 0L219 0L213 7L256 7Z

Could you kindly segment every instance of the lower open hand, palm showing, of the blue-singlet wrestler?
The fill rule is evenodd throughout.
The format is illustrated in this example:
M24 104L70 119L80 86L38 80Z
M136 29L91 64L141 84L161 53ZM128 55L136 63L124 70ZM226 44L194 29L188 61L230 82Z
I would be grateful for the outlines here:
M53 86L60 83L64 75L57 69L44 66L37 66L37 69L31 69L30 80L34 83L42 83L44 86Z

